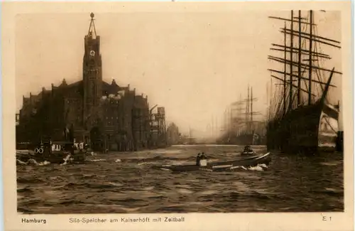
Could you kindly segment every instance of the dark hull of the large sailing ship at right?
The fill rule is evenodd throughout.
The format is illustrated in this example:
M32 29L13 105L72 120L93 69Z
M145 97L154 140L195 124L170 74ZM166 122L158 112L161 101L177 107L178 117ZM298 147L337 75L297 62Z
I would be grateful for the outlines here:
M339 112L329 104L315 104L294 109L267 127L268 150L284 152L335 151Z

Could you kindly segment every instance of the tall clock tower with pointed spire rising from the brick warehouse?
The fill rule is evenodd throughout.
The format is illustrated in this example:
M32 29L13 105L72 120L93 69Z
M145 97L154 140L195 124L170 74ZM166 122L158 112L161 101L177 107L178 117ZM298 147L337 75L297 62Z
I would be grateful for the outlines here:
M82 77L84 87L84 117L89 117L93 109L99 106L102 97L102 59L100 54L100 36L97 36L94 14L90 14L89 31L84 38L84 58Z

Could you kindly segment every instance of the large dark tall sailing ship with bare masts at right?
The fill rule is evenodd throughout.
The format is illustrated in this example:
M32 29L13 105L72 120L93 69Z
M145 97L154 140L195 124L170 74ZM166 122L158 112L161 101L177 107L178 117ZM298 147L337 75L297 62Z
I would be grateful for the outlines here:
M317 14L327 14L317 11ZM322 65L331 57L321 50L340 48L340 42L316 34L315 11L291 11L283 21L283 44L272 44L280 56L268 59L282 68L268 69L276 80L268 109L267 147L281 151L334 150L339 131L339 102L329 102L332 78L342 75L334 67ZM323 47L322 47L323 48ZM272 85L273 87L273 85Z

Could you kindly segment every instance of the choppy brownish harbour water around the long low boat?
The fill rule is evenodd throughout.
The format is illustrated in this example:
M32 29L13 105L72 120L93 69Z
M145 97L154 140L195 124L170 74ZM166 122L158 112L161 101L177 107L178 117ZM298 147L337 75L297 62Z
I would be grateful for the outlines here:
M254 150L265 153L264 147ZM173 146L89 156L85 164L18 165L19 213L343 211L342 154L273 154L266 171L171 173L157 164L230 160L237 146Z

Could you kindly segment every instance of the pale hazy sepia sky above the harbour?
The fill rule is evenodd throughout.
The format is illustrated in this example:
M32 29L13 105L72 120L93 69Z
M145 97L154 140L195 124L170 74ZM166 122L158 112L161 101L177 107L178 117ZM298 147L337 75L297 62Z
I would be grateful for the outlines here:
M304 11L305 12L305 11ZM16 18L16 109L22 95L37 94L51 83L82 80L87 14L21 14ZM307 14L305 12L304 14ZM224 13L95 14L101 36L103 79L136 87L151 106L165 107L168 121L182 131L204 131L212 116L222 123L226 106L246 97L247 85L258 98L254 109L266 114L266 84L271 80L268 60L271 43L282 43L282 21L290 11L235 11ZM315 12L318 33L341 40L340 14ZM330 65L342 71L341 51ZM275 81L274 81L275 82ZM341 100L341 76L334 77Z

